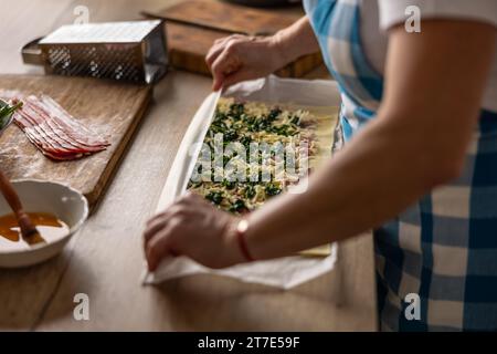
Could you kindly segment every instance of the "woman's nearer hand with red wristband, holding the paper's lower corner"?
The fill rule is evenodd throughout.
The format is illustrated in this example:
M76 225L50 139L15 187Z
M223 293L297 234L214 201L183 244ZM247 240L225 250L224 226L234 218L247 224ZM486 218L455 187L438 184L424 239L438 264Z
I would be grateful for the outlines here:
M148 269L156 270L168 256L187 256L210 268L243 262L233 232L236 221L202 197L187 194L147 222L144 247Z

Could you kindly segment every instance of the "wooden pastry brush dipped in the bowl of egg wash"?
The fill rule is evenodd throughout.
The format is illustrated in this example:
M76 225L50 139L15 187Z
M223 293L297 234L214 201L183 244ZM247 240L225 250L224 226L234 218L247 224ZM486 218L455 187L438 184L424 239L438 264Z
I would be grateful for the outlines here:
M18 219L19 228L21 229L21 236L28 243L36 243L43 241L36 227L31 221L28 214L23 210L21 200L18 194L13 189L9 178L0 170L0 190L6 197L7 202L13 210L15 218ZM32 241L32 242L31 242Z

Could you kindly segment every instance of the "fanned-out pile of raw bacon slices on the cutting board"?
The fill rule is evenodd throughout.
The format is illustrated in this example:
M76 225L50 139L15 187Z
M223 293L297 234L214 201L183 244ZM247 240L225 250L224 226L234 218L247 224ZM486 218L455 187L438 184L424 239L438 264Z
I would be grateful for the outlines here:
M77 159L105 150L110 145L68 114L52 97L3 91L0 97L18 98L23 106L14 114L14 123L43 155L54 160Z

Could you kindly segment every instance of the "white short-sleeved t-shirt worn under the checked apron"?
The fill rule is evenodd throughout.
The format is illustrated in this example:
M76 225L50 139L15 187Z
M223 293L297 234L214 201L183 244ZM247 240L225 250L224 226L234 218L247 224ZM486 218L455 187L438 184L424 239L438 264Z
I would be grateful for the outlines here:
M409 6L419 7L422 21L438 18L467 19L490 23L497 28L497 0L362 0L361 41L370 63L380 73L384 72L387 30L404 23L409 17L405 14ZM421 31L423 31L422 22ZM482 107L497 112L497 55L494 58Z

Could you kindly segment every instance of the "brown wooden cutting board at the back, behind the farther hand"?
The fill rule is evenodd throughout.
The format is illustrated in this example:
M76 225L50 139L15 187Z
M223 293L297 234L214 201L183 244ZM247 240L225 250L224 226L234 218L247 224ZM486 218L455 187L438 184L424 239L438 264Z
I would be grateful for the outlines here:
M290 13L281 9L252 9L219 0L190 0L144 14L166 20L172 66L210 75L205 55L216 39L233 33L273 34L294 23L302 17L302 11ZM302 77L321 63L319 53L305 55L276 74Z

